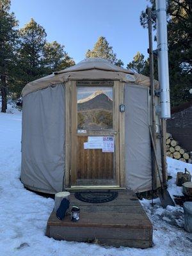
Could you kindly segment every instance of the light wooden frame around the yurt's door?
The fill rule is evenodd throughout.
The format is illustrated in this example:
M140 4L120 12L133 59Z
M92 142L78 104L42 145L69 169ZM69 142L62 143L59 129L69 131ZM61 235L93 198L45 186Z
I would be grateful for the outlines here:
M110 188L110 189L122 189L125 188L125 112L121 113L119 111L119 105L124 104L124 88L125 83L122 83L120 81L113 81L113 115L115 114L115 124L114 129L118 132L118 134L115 136L116 140L116 180L118 180L118 185L116 186L71 186L72 179L76 179L75 176L72 177L72 168L76 168L77 161L73 161L71 163L71 157L72 152L75 154L74 157L76 157L76 150L74 150L74 147L77 143L77 136L72 136L72 134L75 134L76 131L72 131L72 126L77 127L77 116L76 118L73 118L73 122L76 122L75 125L72 124L72 113L77 110L77 104L76 103L76 90L73 90L73 88L76 88L77 82L80 81L67 81L65 83L65 179L63 180L63 189L104 189L104 188ZM85 85L89 85L90 83L94 83L93 81L86 80ZM104 80L100 82L105 82ZM106 81L107 82L107 81ZM83 85L83 81L82 81ZM95 84L97 85L97 84ZM105 86L105 83L102 84ZM90 84L91 86L91 84ZM74 128L75 129L75 128ZM74 163L76 162L76 163ZM65 188L64 188L65 186Z

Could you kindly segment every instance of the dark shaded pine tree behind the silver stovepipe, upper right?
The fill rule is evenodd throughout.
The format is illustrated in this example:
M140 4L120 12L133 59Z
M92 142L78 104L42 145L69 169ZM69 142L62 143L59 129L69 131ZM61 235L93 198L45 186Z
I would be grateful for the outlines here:
M150 0L152 10L155 10L155 1ZM192 71L192 7L191 0L168 0L168 58L170 73L170 96L172 106L191 100ZM141 26L147 28L145 11L140 16ZM156 20L154 19L154 29Z

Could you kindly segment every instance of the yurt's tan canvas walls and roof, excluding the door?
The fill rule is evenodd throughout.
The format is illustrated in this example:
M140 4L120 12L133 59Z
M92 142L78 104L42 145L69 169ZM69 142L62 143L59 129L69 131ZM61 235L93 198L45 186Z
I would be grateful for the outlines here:
M102 83L113 83L119 93L114 98L113 109L118 115L116 141L119 141L120 180L113 189L151 189L150 81L148 77L133 74L99 58L81 61L74 67L25 86L22 91L22 182L27 188L45 193L72 188L70 154L73 154L73 147L72 142L68 142L72 141L68 120L74 120L74 114L70 99L76 93L76 84L87 81L97 87ZM124 104L125 112L120 113L119 104ZM158 129L157 116L157 132ZM158 139L157 155L161 167L161 141Z

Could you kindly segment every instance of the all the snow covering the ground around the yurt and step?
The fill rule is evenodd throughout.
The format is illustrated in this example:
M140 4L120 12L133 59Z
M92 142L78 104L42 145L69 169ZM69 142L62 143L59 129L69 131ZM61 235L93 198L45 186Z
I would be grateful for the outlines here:
M45 227L54 200L36 195L26 189L20 176L21 112L8 106L0 113L0 255L1 256L181 256L192 255L192 236L184 231L182 207L163 209L159 199L142 200L145 211L154 225L154 246L148 249L113 248L98 244L55 241L45 236ZM192 164L168 158L168 181L172 195L182 195L175 186L179 170Z

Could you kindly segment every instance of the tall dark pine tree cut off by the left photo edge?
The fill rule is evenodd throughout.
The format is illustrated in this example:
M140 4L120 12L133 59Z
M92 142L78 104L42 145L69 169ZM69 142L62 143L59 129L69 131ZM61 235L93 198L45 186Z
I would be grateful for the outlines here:
M17 20L10 13L10 0L0 1L0 74L1 74L1 112L6 112L7 84L10 70L14 65L15 44L17 40Z

